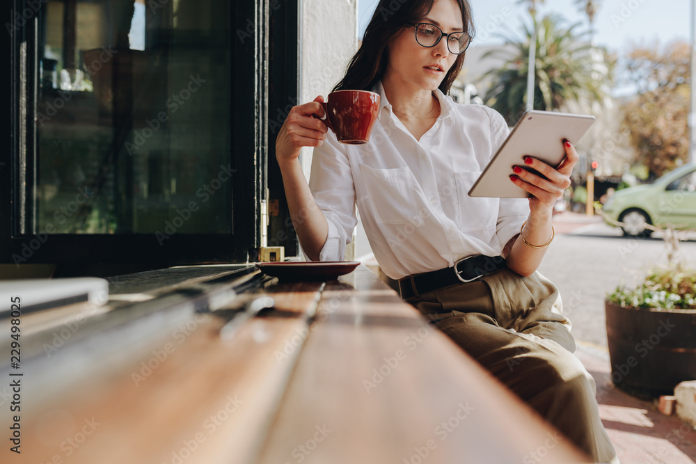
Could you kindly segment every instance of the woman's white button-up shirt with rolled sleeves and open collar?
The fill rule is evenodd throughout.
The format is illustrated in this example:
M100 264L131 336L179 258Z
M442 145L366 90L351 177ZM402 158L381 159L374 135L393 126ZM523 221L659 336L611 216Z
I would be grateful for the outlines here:
M309 186L329 223L320 261L342 261L360 211L381 269L393 279L436 271L471 255L498 256L528 218L525 199L467 192L509 128L487 106L436 90L441 115L417 141L393 113L381 83L370 143L344 145L329 131L314 150ZM305 255L306 258L306 255Z

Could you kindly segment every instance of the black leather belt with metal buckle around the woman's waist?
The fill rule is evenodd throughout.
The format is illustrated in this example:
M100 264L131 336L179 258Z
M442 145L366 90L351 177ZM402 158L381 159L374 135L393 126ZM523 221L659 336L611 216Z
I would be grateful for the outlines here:
M459 259L452 267L400 279L401 298L420 296L458 283L474 282L504 267L505 258L502 256L477 255Z

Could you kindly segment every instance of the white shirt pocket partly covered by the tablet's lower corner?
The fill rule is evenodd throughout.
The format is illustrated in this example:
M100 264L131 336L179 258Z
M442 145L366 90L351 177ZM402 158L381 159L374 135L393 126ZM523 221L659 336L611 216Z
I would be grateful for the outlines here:
M454 184L457 186L459 200L459 215L457 225L461 232L496 229L498 224L498 198L473 198L468 192L481 176L482 171L454 173Z

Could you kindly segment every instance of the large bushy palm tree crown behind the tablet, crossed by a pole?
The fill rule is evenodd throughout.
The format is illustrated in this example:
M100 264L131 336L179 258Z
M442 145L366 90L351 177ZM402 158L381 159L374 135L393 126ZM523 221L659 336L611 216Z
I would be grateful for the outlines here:
M484 100L503 114L511 126L525 109L526 79L530 70L527 56L535 29L539 31L535 47L535 109L559 110L567 101L578 101L583 97L601 101L606 97L603 83L609 76L596 71L587 32L576 33L579 23L564 29L562 21L560 16L546 16L535 26L524 26L521 40L503 36L508 47L484 55L484 58L497 56L507 59L503 67L489 70L484 75L484 79L493 81ZM511 48L514 48L512 55L509 54Z

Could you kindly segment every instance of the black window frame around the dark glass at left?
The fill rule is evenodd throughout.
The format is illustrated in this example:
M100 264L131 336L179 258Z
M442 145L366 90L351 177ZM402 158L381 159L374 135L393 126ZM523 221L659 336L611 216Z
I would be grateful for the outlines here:
M7 29L0 39L0 59L10 63L0 77L5 92L0 104L10 120L4 131L6 149L0 150L0 262L13 264L132 263L172 266L253 262L262 246L262 207L272 192L285 205L277 168L268 180L269 87L282 94L274 100L297 97L299 1L287 0L283 8L269 8L269 0L235 0L232 6L232 147L230 166L237 173L232 184L232 230L229 234L173 234L160 246L155 234L50 234L35 233L32 211L24 192L36 178L35 97L38 72L38 15L31 5L40 0L11 0L4 9ZM31 12L31 14L29 14ZM269 21L271 14L274 16ZM24 24L22 24L24 23ZM271 31L271 24L274 24ZM15 27L18 26L18 27ZM253 31L249 29L252 28ZM246 40L239 35L246 33ZM272 44L269 38L272 36ZM269 86L269 49L274 45L276 66ZM32 60L32 63L28 63ZM33 83L33 85L28 85ZM274 83L277 83L274 86ZM240 89L244 89L240 91ZM253 91L249 91L253 90ZM272 106L271 106L272 107ZM253 111L252 111L253 110ZM270 142L270 143L269 143ZM275 165L275 157L272 164ZM280 185L279 185L280 183ZM281 209L285 211L285 208ZM269 237L282 237L281 246L296 253L296 235L287 217L269 221ZM282 229L282 230L281 230ZM24 232L26 230L27 232ZM17 264L19 264L17 263Z

